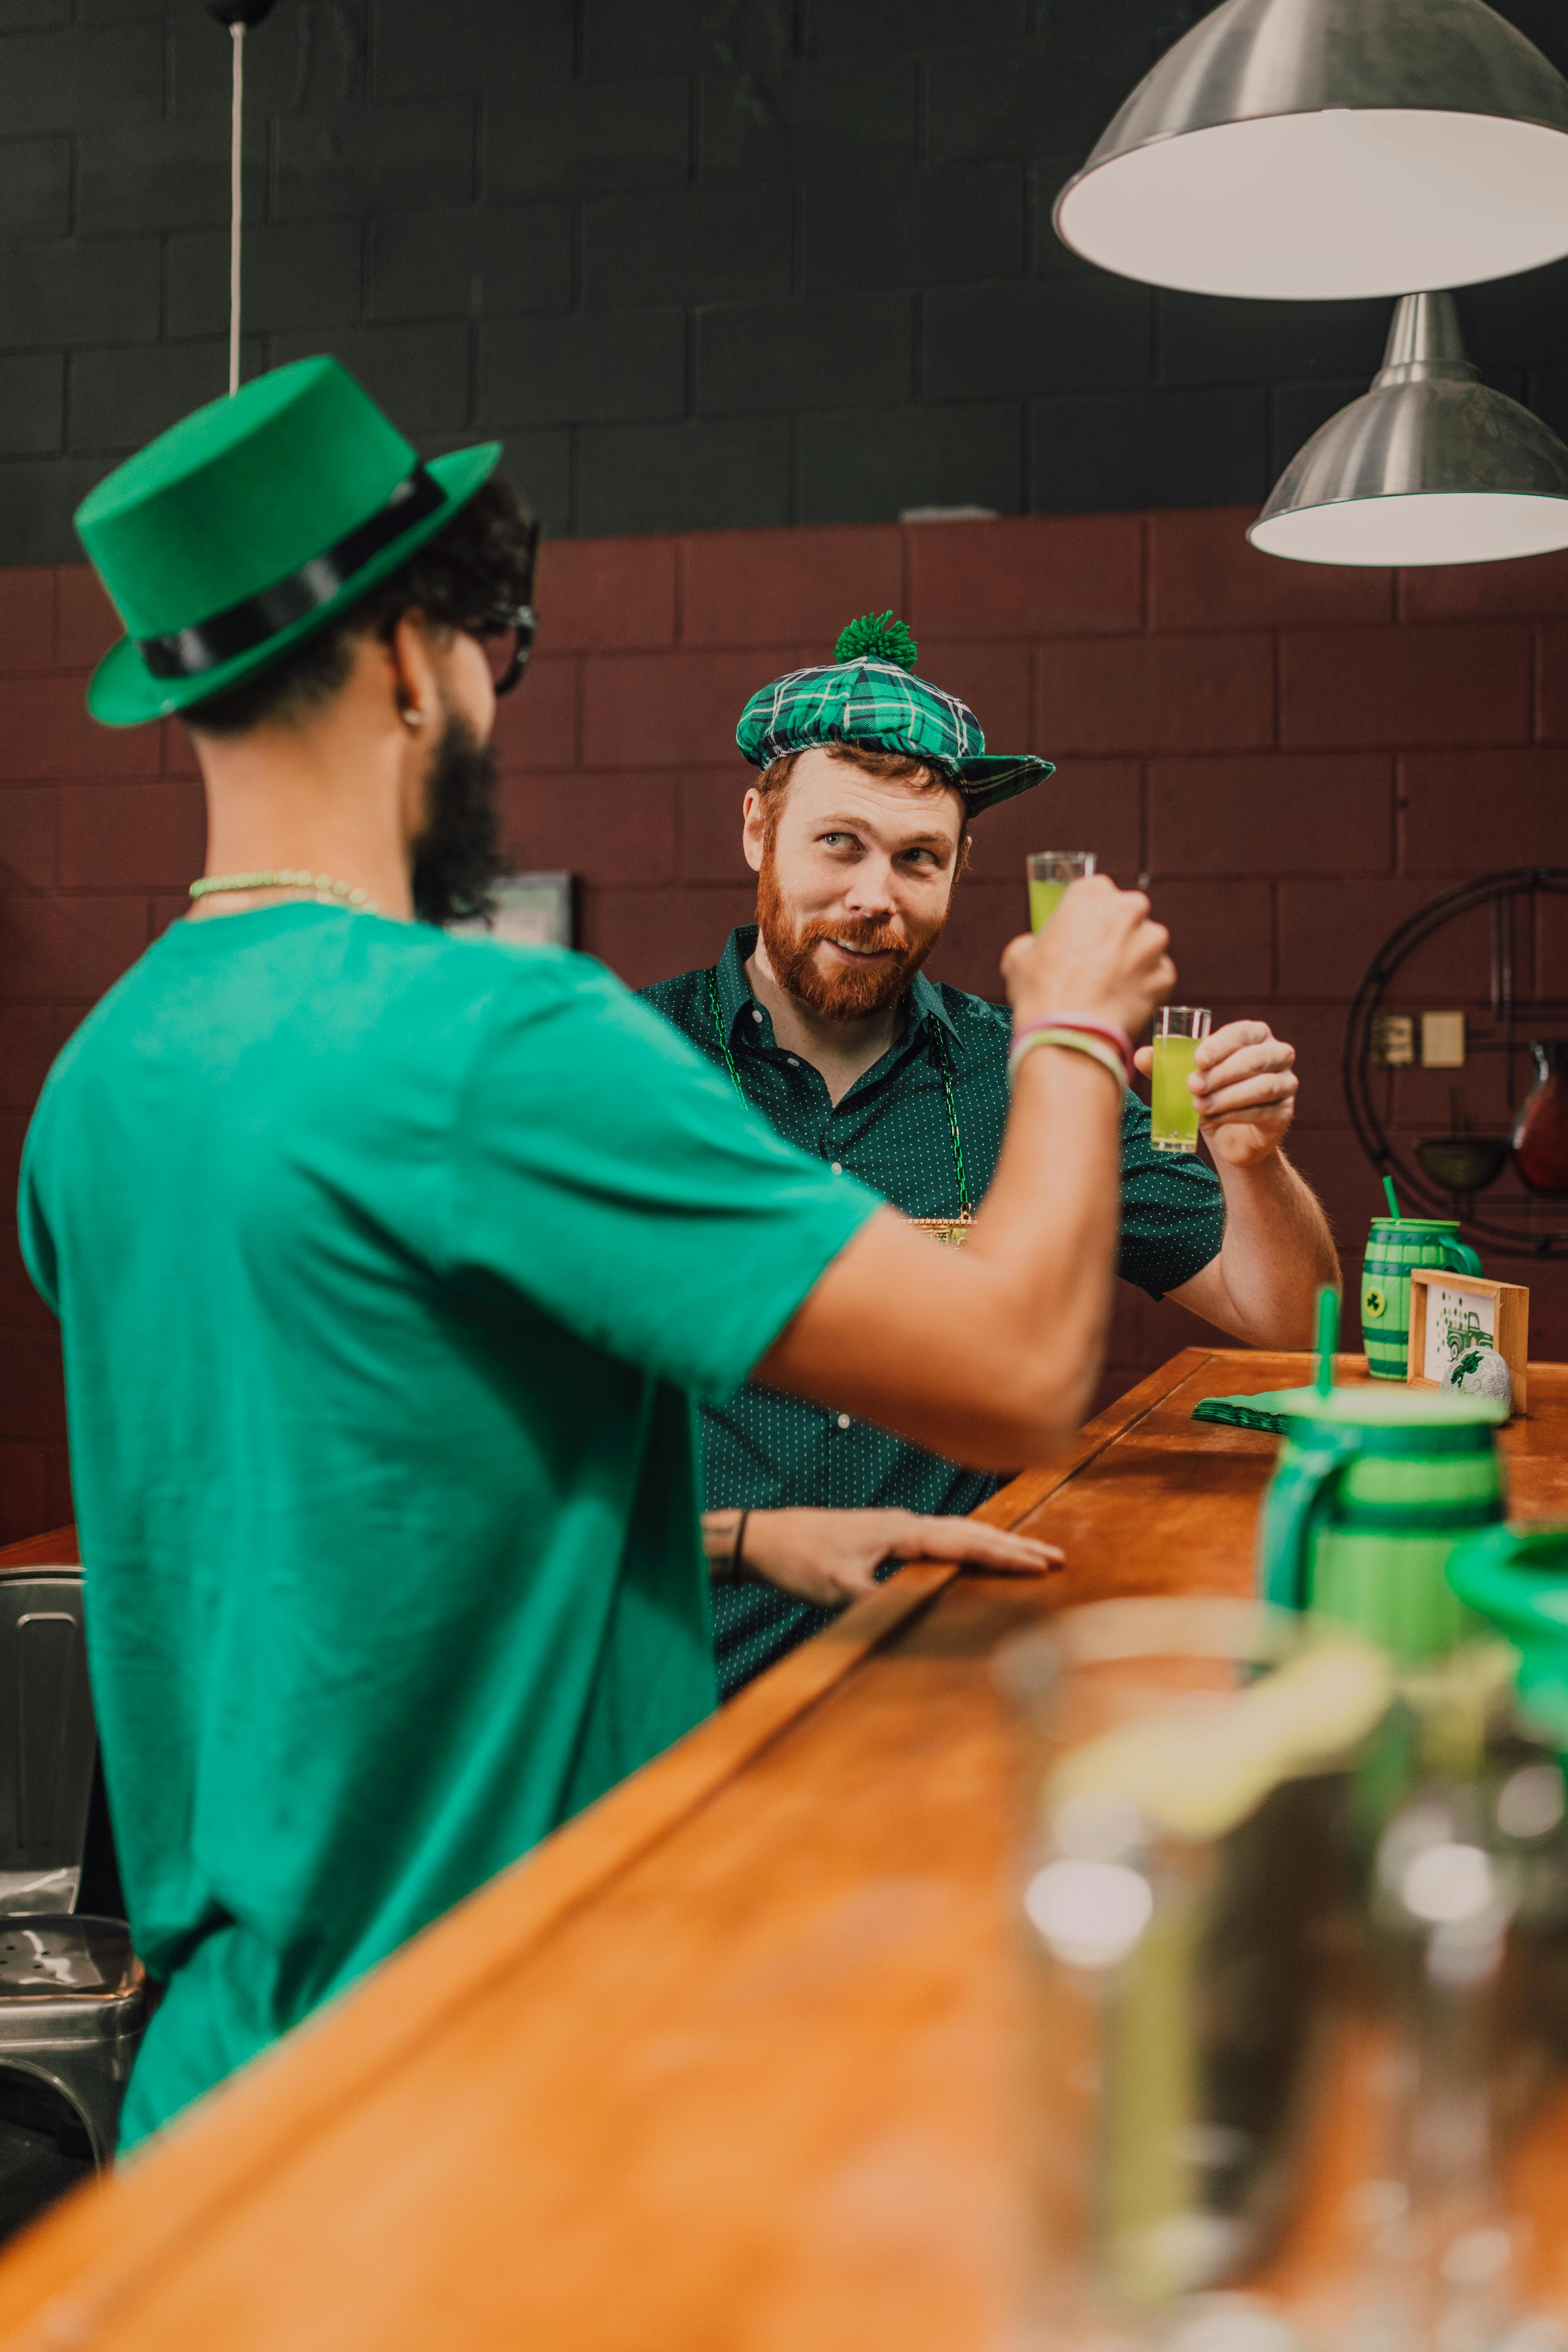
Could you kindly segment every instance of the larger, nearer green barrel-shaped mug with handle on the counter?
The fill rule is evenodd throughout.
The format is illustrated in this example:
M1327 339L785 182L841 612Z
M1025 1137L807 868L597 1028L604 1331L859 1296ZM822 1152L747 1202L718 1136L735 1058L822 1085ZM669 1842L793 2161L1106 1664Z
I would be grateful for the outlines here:
M1505 1510L1505 1411L1432 1388L1295 1392L1258 1529L1258 1590L1281 1609L1434 1658L1474 1632L1446 1566Z

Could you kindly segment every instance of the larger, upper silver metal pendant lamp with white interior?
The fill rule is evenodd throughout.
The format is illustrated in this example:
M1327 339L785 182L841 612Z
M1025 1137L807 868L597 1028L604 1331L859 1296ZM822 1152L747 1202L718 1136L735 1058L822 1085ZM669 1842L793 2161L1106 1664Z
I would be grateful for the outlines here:
M1568 80L1483 0L1225 0L1056 200L1084 259L1335 301L1568 252Z

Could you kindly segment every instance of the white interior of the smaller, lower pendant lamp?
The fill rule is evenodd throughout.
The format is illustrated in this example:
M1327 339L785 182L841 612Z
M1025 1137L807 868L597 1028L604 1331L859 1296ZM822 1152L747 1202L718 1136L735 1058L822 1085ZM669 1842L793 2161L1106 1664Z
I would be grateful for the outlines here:
M1568 548L1568 499L1474 489L1335 499L1260 517L1246 536L1302 564L1490 564Z

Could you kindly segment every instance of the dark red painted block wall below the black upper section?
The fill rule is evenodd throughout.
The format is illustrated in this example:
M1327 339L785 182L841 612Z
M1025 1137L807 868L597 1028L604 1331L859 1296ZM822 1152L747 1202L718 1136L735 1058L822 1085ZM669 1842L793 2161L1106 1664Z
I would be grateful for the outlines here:
M581 875L581 943L628 981L712 957L752 906L741 703L823 659L851 614L893 607L922 670L973 701L994 748L1060 762L976 828L933 969L997 990L1027 849L1095 847L1119 880L1150 875L1182 995L1218 1016L1262 1011L1300 1047L1298 1157L1354 1261L1380 1197L1345 1124L1338 1054L1366 962L1462 875L1568 863L1568 557L1326 572L1253 555L1246 520L559 541L529 684L503 708L520 858ZM0 574L7 1207L52 1054L179 910L202 858L179 729L110 734L82 713L108 635L85 572ZM68 1517L68 1482L56 1345L12 1235L0 1265L9 1538ZM1568 1355L1568 1284L1552 1268L1523 1279L1535 1352ZM1197 1329L1180 1308L1124 1298L1110 1385Z

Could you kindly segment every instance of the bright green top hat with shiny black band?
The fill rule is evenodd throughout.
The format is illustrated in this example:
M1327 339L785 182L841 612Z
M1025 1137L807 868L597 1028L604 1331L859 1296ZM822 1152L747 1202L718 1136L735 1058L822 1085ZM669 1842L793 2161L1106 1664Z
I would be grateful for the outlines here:
M87 708L139 727L254 677L451 522L498 461L484 442L421 466L336 360L294 360L183 416L75 510L127 628Z

